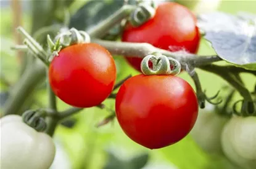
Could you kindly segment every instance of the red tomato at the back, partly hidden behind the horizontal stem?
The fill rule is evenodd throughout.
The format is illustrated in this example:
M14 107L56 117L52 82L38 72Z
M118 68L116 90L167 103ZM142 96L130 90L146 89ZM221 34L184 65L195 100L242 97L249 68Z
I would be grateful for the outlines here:
M139 27L126 25L123 42L146 42L160 49L196 53L200 42L197 20L189 9L175 2L159 4L154 18ZM141 71L141 58L126 57L133 68Z

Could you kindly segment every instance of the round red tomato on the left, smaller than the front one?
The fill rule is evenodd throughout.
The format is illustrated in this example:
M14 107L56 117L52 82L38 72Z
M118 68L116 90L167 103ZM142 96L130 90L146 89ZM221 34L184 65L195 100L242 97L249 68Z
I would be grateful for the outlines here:
M89 108L107 98L115 84L112 55L98 44L75 44L60 50L49 67L53 92L67 104Z

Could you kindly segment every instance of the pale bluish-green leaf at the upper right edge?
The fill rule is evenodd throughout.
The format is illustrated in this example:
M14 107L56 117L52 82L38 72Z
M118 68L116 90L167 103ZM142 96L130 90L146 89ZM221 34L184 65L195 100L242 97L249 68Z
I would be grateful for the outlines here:
M256 15L215 12L200 15L197 25L220 58L256 70Z

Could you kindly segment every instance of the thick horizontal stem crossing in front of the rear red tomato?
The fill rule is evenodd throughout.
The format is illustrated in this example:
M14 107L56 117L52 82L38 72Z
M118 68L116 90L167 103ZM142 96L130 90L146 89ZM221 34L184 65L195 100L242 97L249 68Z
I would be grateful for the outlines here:
M168 50L159 49L147 43L112 42L112 41L104 41L99 39L92 39L91 41L102 45L107 50L109 50L109 52L112 53L113 55L138 56L138 57L144 58L153 52L159 52L167 57L175 58L176 60L180 61L181 66L185 66L189 64L197 67L202 65L208 65L215 61L221 60L221 58L218 57L217 55L199 57L191 53L187 53L187 54L175 53L175 52L170 52Z

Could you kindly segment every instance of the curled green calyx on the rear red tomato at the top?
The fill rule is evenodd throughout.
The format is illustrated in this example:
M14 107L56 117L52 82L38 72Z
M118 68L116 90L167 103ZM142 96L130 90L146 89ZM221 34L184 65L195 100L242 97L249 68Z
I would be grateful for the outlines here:
M141 2L138 7L131 12L130 23L133 26L140 26L143 23L147 22L149 19L155 15L155 4Z

